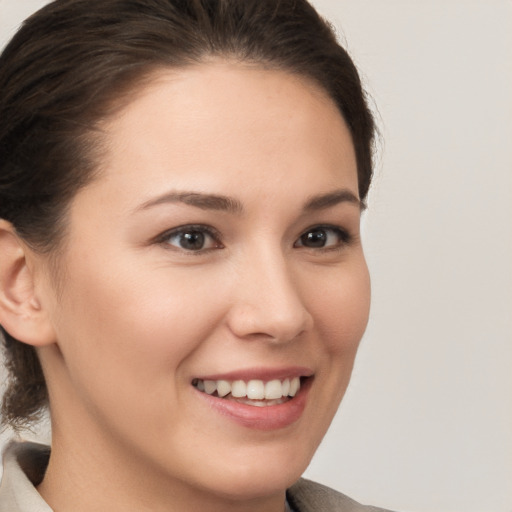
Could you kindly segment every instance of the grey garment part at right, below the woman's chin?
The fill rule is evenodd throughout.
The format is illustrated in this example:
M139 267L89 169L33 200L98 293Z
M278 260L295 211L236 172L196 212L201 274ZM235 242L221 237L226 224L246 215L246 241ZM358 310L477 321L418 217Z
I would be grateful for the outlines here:
M297 512L387 512L361 505L334 489L304 478L288 489L287 498Z

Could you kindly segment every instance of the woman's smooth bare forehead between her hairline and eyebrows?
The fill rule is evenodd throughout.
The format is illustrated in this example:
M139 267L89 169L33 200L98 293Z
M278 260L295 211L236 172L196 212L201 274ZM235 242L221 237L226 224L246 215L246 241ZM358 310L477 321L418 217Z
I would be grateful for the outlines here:
M139 181L141 193L169 180L208 192L225 189L222 179L289 185L316 170L332 186L355 183L357 194L338 108L318 85L285 71L224 61L160 70L102 128L104 174L112 183Z

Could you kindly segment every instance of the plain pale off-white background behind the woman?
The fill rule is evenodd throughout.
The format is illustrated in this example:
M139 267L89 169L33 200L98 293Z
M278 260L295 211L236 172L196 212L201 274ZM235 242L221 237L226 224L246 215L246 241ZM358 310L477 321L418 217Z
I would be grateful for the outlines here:
M0 0L0 45L44 3ZM511 512L512 2L314 4L382 142L371 320L306 476L394 510Z

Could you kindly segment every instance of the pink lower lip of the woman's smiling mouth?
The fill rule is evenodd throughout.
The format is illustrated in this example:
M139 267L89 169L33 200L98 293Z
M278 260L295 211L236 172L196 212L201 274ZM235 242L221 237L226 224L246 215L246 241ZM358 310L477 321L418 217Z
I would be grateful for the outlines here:
M241 404L208 395L199 390L197 393L207 401L210 407L243 427L256 430L276 430L288 427L302 416L312 380L310 377L302 382L300 390L291 400L264 407Z

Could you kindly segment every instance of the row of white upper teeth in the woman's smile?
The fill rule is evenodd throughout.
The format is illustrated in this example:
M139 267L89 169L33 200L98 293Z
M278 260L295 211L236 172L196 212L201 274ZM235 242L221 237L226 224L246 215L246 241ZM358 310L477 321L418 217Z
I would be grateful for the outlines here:
M300 378L274 379L263 382L259 379L252 379L249 382L235 380L201 380L196 379L194 386L199 391L213 395L217 391L219 397L225 397L231 393L233 398L248 398L249 400L279 400L282 397L295 396L300 389ZM265 402L261 402L265 404ZM254 403L254 405L258 405Z

